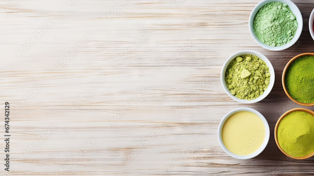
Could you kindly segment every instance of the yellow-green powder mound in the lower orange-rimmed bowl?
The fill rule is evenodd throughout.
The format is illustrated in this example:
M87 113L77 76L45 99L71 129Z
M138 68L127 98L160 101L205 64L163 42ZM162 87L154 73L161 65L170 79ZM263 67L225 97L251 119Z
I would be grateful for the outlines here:
M277 129L279 146L293 157L303 157L314 151L314 117L296 111L286 115Z

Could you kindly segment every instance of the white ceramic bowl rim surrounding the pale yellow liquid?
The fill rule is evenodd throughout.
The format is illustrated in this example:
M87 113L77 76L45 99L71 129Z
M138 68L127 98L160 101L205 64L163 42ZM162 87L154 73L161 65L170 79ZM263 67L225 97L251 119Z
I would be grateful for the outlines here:
M222 131L222 128L225 124L225 121L234 113L237 113L237 112L241 112L241 111L247 111L247 112L251 112L251 113L254 113L256 114L259 118L261 118L261 120L263 121L263 124L265 126L265 138L264 138L264 141L263 141L263 144L262 146L260 146L260 148L255 151L254 153L250 154L250 155L237 155L235 153L232 153L231 151L229 151L226 147L225 147L225 144L223 143L222 141L222 137L221 137L221 131ZM260 153L262 153L262 151L266 148L267 144L268 144L268 141L269 141L269 135L270 135L270 130L269 130L269 125L268 125L268 122L267 120L265 119L265 117L259 113L258 111L254 110L254 109L251 109L251 108L248 108L248 107L241 107L241 108L237 108L237 109L234 109L232 111L230 111L229 113L227 113L225 115L224 118L222 118L222 120L220 121L220 124L219 124L219 127L218 127L218 140L219 140L219 144L221 146L221 148L228 154L230 155L231 157L234 157L236 159L250 159L250 158L253 158L253 157L256 157L257 155L259 155Z

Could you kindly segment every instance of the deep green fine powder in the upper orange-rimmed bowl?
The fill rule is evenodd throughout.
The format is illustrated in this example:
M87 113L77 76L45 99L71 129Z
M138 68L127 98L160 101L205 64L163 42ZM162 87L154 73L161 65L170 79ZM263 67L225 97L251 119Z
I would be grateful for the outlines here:
M314 103L314 56L302 56L288 67L284 83L289 95L302 103Z

